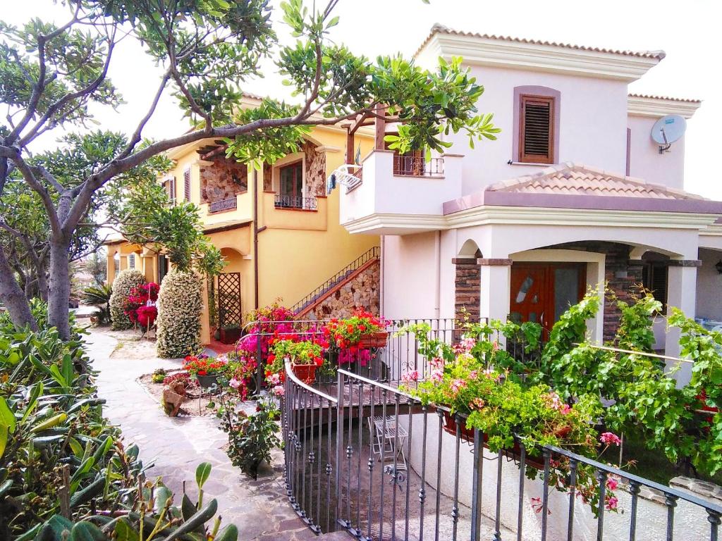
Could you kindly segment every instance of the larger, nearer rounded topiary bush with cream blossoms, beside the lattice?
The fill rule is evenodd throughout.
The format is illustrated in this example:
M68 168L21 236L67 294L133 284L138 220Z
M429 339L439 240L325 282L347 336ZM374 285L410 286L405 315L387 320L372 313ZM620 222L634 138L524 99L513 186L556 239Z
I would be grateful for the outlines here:
M170 271L158 294L157 353L178 359L201 347L201 278L195 273Z

